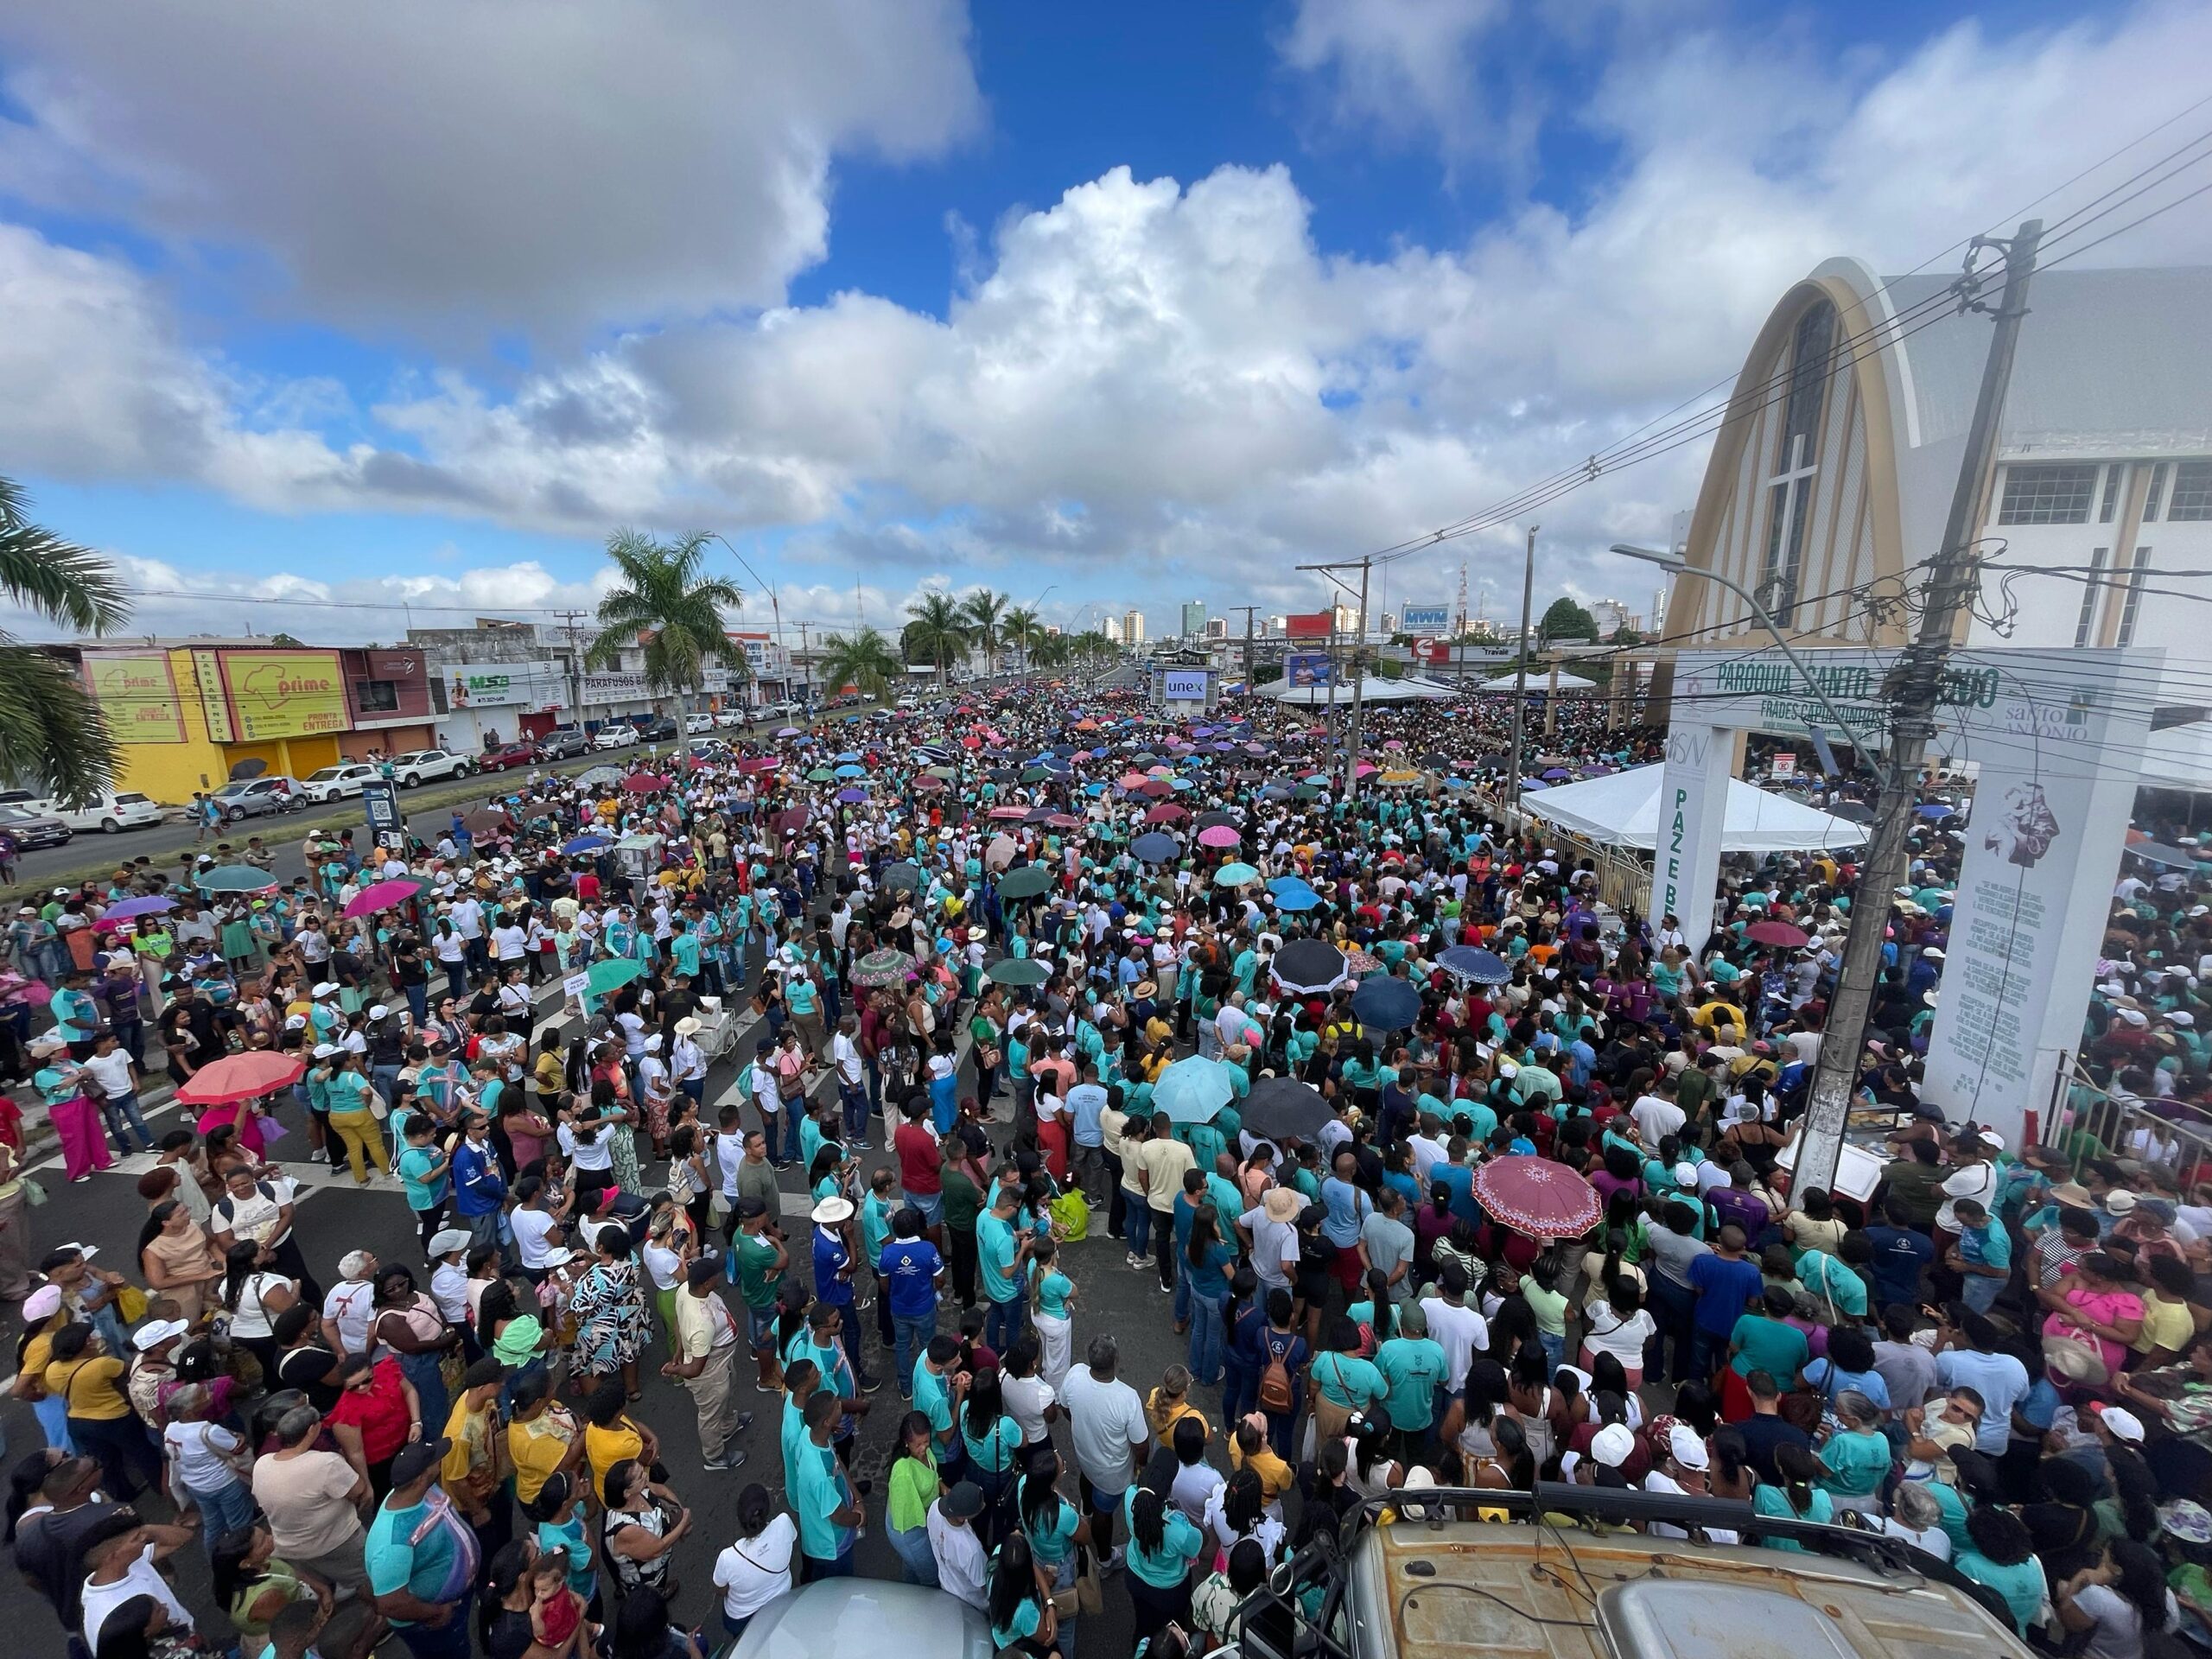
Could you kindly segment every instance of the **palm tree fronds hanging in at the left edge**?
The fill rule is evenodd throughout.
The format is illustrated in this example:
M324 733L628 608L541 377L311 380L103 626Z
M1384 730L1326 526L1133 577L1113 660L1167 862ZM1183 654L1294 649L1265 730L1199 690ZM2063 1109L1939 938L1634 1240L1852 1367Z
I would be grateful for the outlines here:
M33 524L27 507L22 487L0 478L0 593L73 633L115 633L131 617L115 571L91 549ZM100 703L66 661L7 633L0 776L64 801L84 801L115 779L115 737Z

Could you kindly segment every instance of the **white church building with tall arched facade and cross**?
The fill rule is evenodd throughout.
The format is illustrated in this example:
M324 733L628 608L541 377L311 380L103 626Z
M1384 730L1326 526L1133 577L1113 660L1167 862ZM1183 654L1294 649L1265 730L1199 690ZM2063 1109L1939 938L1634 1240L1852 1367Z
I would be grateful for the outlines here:
M1949 281L1832 259L1781 296L1736 378L1686 553L1759 591L1801 650L1902 646L1918 626L1900 599L1942 542L1989 349L1984 314L1940 310ZM2212 787L2208 307L2208 268L2037 272L1960 628L1964 664L1997 644L2163 650L2130 690L2152 708L2143 776L2190 790ZM1694 577L1666 635L1767 646Z

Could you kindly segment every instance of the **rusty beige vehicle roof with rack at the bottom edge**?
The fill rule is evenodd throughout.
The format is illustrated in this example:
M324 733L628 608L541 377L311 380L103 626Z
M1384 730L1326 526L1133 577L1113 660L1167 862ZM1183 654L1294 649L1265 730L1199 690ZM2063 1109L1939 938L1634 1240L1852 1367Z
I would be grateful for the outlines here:
M1816 1553L1486 1522L1376 1526L1356 1635L1394 1659L1991 1659L2026 1655L1969 1595Z

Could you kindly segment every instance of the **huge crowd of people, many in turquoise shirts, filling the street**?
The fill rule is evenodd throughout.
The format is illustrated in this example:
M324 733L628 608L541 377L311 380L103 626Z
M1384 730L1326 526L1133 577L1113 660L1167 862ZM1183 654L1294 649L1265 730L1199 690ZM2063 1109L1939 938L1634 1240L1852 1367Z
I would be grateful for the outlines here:
M1117 1599L1177 1659L1363 1506L1564 1480L1893 1533L2053 1648L2212 1646L2212 1203L2159 1128L2205 1084L2205 883L2121 883L2099 1110L2011 1148L1916 1095L1955 821L1893 896L1845 854L1732 869L1692 949L1500 825L1498 701L1369 710L1347 796L1301 712L1020 688L533 776L436 845L310 838L292 880L234 874L272 869L250 843L31 907L64 1179L150 1166L111 1265L33 1245L0 1155L44 1440L18 1564L97 1659L672 1659L876 1524L1002 1650L1071 1659ZM1778 1166L1854 900L1891 933L1860 1199ZM148 1055L246 1051L296 1082L146 1128ZM301 1159L389 1188L411 1256L310 1261ZM1509 1159L1595 1221L1486 1206ZM1088 1312L1110 1274L1157 1285L1157 1376ZM692 1455L739 1524L679 1586ZM221 1624L170 1582L192 1551Z

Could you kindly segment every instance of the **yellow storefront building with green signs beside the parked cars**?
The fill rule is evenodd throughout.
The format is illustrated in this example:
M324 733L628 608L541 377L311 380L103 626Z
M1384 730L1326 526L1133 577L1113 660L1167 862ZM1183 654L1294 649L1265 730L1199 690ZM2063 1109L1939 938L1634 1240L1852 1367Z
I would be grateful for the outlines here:
M223 787L241 761L303 779L341 759L349 728L336 650L88 648L84 684L115 734L115 787L164 805Z

